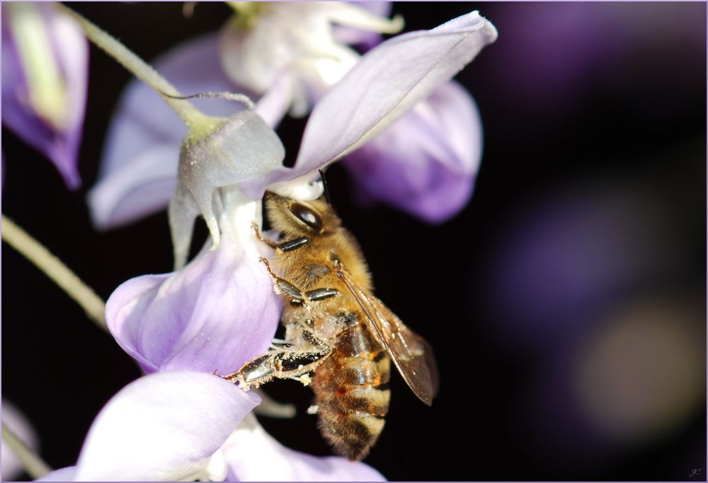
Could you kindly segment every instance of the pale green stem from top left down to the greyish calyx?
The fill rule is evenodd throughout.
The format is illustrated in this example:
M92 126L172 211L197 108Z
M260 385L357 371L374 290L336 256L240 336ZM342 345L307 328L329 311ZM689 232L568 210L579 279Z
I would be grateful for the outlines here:
M131 74L144 83L147 83L148 86L162 95L165 102L182 118L185 124L187 124L187 127L191 128L194 124L205 120L207 116L202 114L202 112L197 110L197 108L187 100L175 99L175 97L181 97L181 93L175 86L158 74L152 66L149 66L140 59L140 57L137 57L137 55L125 47L125 45L122 45L122 43L115 40L115 38L105 32L105 30L101 30L101 28L98 28L98 26L94 25L91 21L87 20L79 13L76 13L71 8L62 4L57 4L57 8L59 11L74 18L91 42L101 47L110 57L113 57L113 59L124 66L125 69L130 71ZM164 94L171 95L172 98L166 97Z

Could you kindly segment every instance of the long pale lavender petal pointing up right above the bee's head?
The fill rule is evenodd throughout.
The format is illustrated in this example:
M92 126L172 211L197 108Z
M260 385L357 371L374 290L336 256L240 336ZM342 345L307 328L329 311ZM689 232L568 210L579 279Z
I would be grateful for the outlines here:
M362 145L494 40L493 25L472 12L370 50L312 110L290 176L309 173Z

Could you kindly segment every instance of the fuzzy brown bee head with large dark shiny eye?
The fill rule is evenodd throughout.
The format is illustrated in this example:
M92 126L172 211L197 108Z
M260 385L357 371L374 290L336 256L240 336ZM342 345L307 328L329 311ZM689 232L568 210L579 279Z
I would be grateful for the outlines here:
M324 235L341 225L323 197L304 202L267 191L263 199L270 224L287 236Z

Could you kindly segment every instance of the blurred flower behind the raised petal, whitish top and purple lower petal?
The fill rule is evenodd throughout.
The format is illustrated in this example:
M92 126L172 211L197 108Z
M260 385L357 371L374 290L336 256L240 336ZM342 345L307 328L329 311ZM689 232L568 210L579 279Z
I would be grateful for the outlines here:
M346 8L360 12L360 5ZM374 8L372 18L379 19L390 11L389 4L367 8ZM247 22L224 27L224 69L234 81L258 93L284 91L280 112L285 112L290 96L291 113L302 115L359 62L359 55L340 42L371 48L380 42L377 32L384 31L374 23L368 25L371 32L333 25L338 20L334 10L299 4L256 8L246 16ZM261 52L270 54L258 57ZM363 191L360 198L440 222L469 201L480 158L479 113L470 95L452 86L421 100L413 112L350 156L346 165Z

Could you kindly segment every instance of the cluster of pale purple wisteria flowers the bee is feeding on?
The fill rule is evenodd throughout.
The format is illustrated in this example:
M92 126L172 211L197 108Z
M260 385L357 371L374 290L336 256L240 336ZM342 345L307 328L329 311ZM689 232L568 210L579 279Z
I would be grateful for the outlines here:
M176 271L130 279L110 296L108 328L147 376L103 408L76 466L47 480L382 479L362 463L283 448L249 414L260 398L212 373L267 351L278 325L282 300L252 230L266 189L314 199L317 170L346 156L367 199L429 221L464 206L481 155L479 115L450 79L496 30L472 12L381 42L401 19L353 4L236 10L218 37L156 66L183 92L245 91L255 106L212 100L219 117L185 128L147 86L123 95L89 195L93 220L108 228L169 205ZM309 112L292 168L273 131L286 112ZM198 216L210 238L188 262Z

